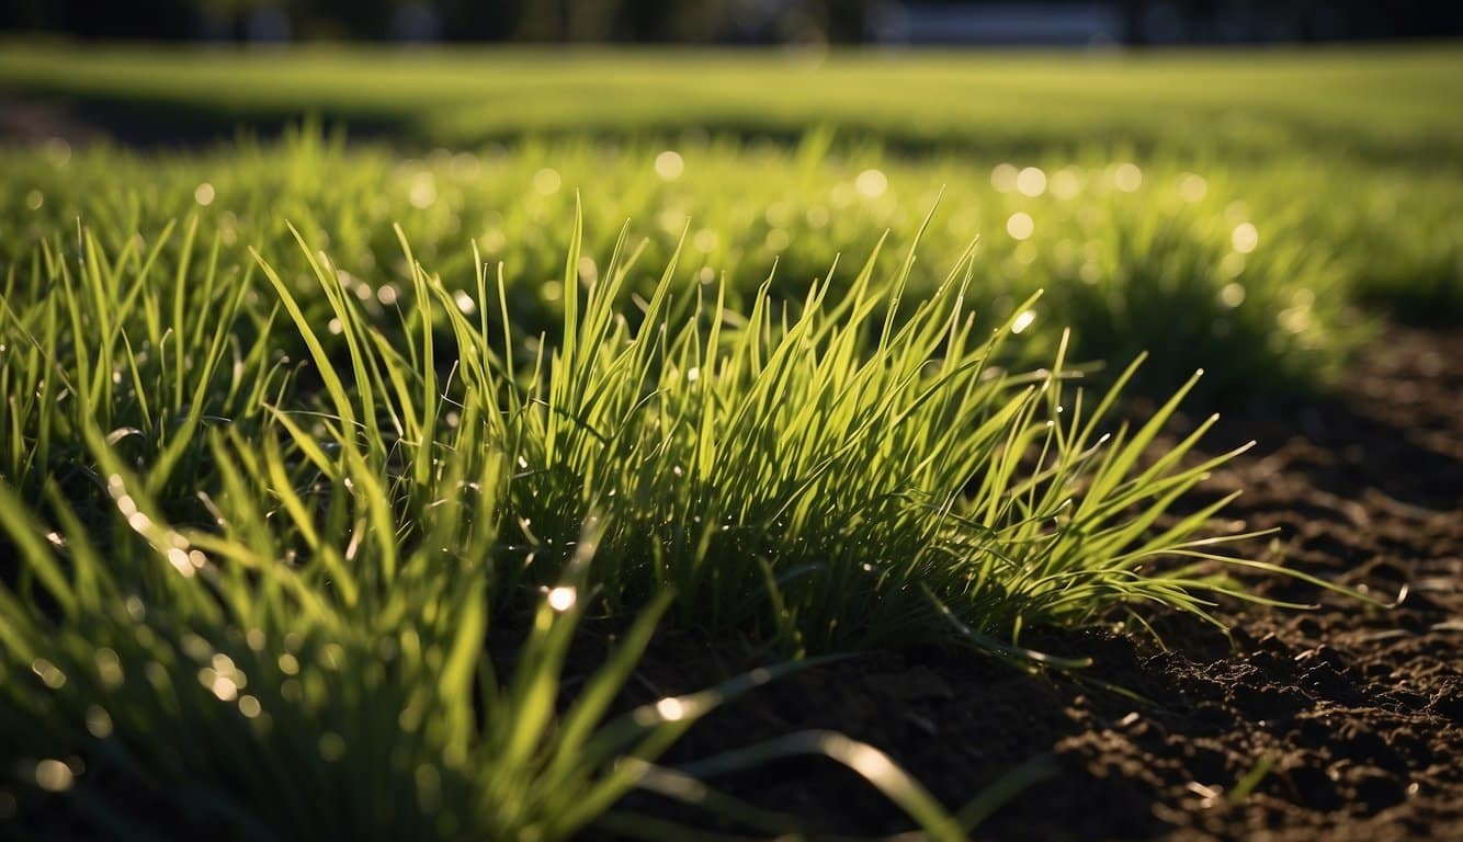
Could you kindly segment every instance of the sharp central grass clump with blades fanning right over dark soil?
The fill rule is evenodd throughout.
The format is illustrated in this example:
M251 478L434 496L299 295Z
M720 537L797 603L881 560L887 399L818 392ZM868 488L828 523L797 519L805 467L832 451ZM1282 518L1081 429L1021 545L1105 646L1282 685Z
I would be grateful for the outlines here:
M815 285L796 317L762 297L743 319L699 292L677 316L667 270L632 327L612 259L582 311L566 298L565 344L483 412L522 469L506 491L521 539L562 545L603 509L612 605L672 586L685 621L799 649L938 634L930 596L1009 637L1197 585L1143 574L1208 515L1140 541L1204 475L1179 468L1197 437L1138 466L1178 399L1103 436L1116 390L1084 402L1061 355L1030 374L993 364L1011 326L976 333L970 253L901 322L911 262L881 285L870 260L843 297ZM456 333L459 360L492 358L486 330ZM500 393L486 368L462 377Z

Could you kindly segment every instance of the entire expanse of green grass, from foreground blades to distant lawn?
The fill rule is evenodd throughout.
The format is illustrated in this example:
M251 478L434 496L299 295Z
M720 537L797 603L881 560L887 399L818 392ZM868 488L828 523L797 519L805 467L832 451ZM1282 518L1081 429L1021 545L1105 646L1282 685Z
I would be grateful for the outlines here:
M0 152L0 807L556 839L654 835L612 810L651 788L756 824L654 763L818 658L1077 670L1023 632L1337 588L1230 553L1213 421L1154 441L1457 325L1459 79L9 44L4 95L187 145ZM206 140L234 123L296 127ZM617 646L569 674L584 615ZM622 710L657 624L768 668ZM796 753L932 838L1001 795L947 811L831 734L737 757Z

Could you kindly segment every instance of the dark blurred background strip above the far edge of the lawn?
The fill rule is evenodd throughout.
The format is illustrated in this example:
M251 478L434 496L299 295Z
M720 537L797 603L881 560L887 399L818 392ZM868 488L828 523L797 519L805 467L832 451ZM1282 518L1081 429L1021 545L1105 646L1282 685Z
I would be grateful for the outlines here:
M214 42L1252 44L1463 34L1388 0L6 0L0 29Z

